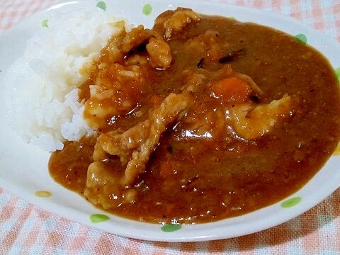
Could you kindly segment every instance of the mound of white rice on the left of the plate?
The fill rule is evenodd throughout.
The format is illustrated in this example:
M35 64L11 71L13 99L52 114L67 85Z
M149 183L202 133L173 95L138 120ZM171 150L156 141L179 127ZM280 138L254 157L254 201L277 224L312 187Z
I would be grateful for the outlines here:
M4 77L11 125L26 142L52 152L65 140L94 132L82 118L84 102L78 102L77 87L86 79L79 69L118 32L117 21L100 9L55 13L48 28L28 40Z

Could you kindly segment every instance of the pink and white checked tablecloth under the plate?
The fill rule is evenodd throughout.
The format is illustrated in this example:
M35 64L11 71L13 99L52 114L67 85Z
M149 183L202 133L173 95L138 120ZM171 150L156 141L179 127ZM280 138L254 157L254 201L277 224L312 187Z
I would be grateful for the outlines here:
M113 0L111 0L113 1ZM196 0L197 1L197 0ZM210 0L212 1L212 0ZM0 33L57 0L0 0ZM207 4L209 1L206 1ZM291 16L340 42L339 0L225 0ZM340 189L277 227L197 243L145 242L91 229L0 187L0 254L340 254Z

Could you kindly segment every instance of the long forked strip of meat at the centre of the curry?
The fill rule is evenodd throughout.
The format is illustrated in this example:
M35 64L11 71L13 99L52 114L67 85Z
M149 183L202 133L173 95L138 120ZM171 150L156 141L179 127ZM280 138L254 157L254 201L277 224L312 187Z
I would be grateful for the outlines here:
M182 118L193 98L188 91L169 94L164 101L149 112L149 118L122 134L108 132L98 137L94 154L101 160L103 151L118 155L122 164L128 163L122 179L123 186L131 186L145 171L150 154L157 147L159 138L166 127ZM98 146L99 145L99 146Z

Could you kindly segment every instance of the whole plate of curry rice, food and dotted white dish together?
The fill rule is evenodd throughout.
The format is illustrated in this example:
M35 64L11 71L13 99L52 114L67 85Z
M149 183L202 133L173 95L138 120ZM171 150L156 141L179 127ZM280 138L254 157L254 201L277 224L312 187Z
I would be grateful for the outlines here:
M51 6L0 35L0 185L150 241L287 222L339 188L339 49L227 4Z

